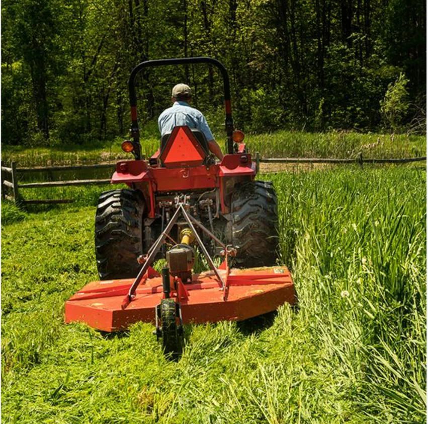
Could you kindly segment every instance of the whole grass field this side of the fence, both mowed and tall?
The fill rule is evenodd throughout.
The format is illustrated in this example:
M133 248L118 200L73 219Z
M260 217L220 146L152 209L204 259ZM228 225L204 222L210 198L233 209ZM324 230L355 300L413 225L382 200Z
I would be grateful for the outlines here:
M63 323L65 300L97 278L93 206L9 205L2 421L424 422L425 172L262 177L278 192L280 262L300 309L285 305L272 325L188 327L178 362L152 325L106 335Z

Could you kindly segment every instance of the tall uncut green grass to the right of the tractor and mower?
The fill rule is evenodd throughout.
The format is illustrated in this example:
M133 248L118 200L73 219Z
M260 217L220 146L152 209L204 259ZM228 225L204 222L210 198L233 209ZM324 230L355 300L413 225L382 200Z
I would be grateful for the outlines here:
M355 169L274 181L286 229L282 255L320 342L355 379L366 413L416 422L426 396L425 171Z

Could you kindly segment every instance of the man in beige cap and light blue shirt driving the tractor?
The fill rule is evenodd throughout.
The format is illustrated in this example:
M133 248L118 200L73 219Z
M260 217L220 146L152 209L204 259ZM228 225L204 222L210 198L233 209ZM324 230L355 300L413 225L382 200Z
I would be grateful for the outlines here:
M198 109L190 106L192 101L192 90L186 84L177 84L173 88L172 107L165 109L157 120L161 136L172 132L178 125L187 125L190 128L196 128L201 131L208 142L208 148L218 159L223 159L223 153L217 144L214 136L208 126L205 116Z

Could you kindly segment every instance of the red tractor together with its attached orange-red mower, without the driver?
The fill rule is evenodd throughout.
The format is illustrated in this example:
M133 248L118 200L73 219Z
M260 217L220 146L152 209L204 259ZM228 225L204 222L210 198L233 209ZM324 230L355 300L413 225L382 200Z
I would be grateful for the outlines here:
M216 163L204 134L177 126L162 136L147 161L141 157L135 78L145 67L209 63L224 83L227 154ZM229 78L208 57L149 60L129 79L131 135L111 182L126 189L100 196L95 249L101 281L65 305L66 322L118 331L138 321L156 324L166 352L180 350L186 323L244 320L296 301L286 267L275 266L277 197L271 182L254 181L256 166L241 131L233 131ZM210 270L193 273L194 245ZM222 258L215 266L213 257ZM166 259L161 274L152 263ZM231 267L233 264L233 267Z

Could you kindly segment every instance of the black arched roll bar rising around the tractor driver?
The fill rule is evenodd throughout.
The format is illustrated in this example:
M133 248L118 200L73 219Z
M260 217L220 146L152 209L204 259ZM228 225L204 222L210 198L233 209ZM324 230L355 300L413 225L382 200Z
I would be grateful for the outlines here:
M129 87L129 101L131 104L131 135L134 139L134 154L136 159L141 159L141 145L140 145L140 131L138 129L137 119L137 95L135 93L135 78L137 74L144 68L150 66L165 66L165 65L184 65L188 63L210 63L217 66L220 69L221 75L223 76L224 86L224 108L226 111L226 134L227 134L227 153L233 153L233 119L232 119L232 108L230 105L230 85L229 75L224 65L216 59L211 57L184 57L179 59L158 59L158 60L146 60L145 62L139 63L132 69L131 75L128 81Z

